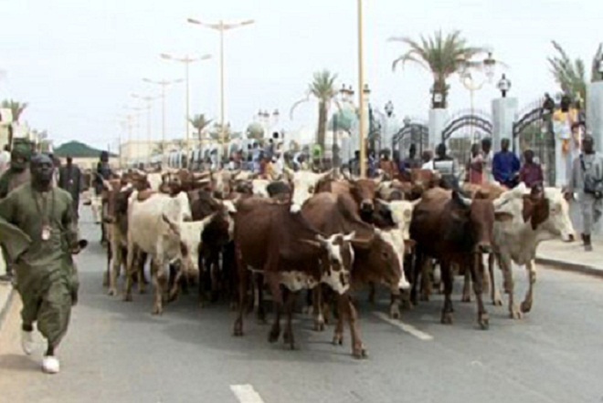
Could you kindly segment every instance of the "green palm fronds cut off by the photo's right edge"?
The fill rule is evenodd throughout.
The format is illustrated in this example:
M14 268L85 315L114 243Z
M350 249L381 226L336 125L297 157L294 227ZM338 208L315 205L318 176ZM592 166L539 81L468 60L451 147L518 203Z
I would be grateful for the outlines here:
M577 95L579 98L586 100L587 98L587 68L584 60L577 58L572 60L566 53L566 50L555 41L551 41L555 47L556 55L548 57L548 64L551 67L551 73L555 82L561 90L575 100ZM603 44L599 44L597 53L593 57L591 65L590 81L599 81L600 74L598 73L598 62L603 56Z

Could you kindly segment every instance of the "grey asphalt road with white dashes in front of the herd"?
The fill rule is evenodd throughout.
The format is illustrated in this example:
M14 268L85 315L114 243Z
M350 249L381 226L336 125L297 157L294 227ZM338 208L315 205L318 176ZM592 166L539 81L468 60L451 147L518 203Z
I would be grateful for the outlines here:
M97 231L82 224L91 240ZM193 295L153 316L150 295L123 303L105 294L103 264L96 242L79 257L80 304L57 376L40 372L41 345L32 357L21 353L17 299L0 335L0 401L603 401L603 284L593 277L542 269L534 312L512 321L491 306L489 331L477 330L474 305L459 295L452 326L439 325L439 295L404 314L412 328L376 315L385 303L362 304L370 357L357 361L347 335L343 347L332 346L332 327L315 333L303 315L296 351L270 345L268 326L251 315L246 336L231 336L227 306L201 310ZM523 292L524 274L516 274Z

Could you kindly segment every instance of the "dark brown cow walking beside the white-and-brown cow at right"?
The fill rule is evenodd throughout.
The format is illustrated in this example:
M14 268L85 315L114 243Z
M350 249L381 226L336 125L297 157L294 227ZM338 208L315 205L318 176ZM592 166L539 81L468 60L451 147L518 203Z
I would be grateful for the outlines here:
M468 200L457 191L439 188L426 191L415 207L410 223L410 237L417 242L415 281L411 298L417 301L417 277L425 257L439 260L444 282L445 301L441 323L452 323L452 263L469 267L473 291L478 305L478 323L482 329L489 325L488 313L481 299L481 253L492 250L494 207L492 201Z

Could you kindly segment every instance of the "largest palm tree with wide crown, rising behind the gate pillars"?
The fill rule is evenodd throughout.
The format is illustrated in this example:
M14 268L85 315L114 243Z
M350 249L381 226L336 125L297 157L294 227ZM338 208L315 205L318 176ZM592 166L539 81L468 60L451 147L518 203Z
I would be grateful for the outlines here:
M437 31L432 37L421 36L416 41L407 36L391 37L390 41L398 41L410 49L394 60L392 68L395 70L398 63L414 62L427 68L433 74L433 87L431 88L431 106L433 109L447 107L448 91L450 86L448 78L458 72L461 67L477 67L478 62L471 59L486 52L481 47L470 47L467 39L460 36L460 31L453 31L446 37ZM440 94L441 98L436 98Z

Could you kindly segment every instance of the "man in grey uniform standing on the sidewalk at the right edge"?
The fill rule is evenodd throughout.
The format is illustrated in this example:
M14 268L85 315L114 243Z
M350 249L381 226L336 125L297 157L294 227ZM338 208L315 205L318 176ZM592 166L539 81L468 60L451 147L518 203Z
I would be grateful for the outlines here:
M603 213L603 156L595 151L592 136L582 140L582 153L574 160L566 199L571 199L575 191L582 213L582 242L584 249L590 252L593 250L590 240L593 224Z

